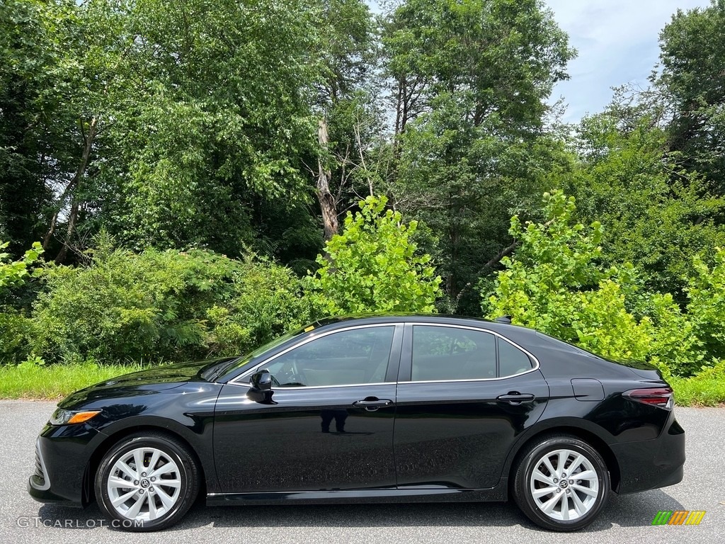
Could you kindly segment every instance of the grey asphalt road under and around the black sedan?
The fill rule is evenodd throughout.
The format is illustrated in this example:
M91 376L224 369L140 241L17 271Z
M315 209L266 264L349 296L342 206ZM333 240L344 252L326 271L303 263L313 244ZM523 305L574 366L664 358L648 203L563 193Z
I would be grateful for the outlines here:
M552 534L513 503L195 506L166 532L130 535L108 527L97 506L45 506L25 491L36 434L54 403L0 401L0 543L725 543L725 408L676 408L687 432L684 481L612 495L584 532ZM659 510L705 510L698 526L653 527Z

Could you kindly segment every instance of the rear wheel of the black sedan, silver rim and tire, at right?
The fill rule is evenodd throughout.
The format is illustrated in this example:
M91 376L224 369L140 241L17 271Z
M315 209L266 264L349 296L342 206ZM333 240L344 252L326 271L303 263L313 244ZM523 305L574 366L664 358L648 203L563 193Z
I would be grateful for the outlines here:
M576 531L594 522L610 487L597 450L564 434L541 437L526 448L513 478L514 500L523 514L552 531Z

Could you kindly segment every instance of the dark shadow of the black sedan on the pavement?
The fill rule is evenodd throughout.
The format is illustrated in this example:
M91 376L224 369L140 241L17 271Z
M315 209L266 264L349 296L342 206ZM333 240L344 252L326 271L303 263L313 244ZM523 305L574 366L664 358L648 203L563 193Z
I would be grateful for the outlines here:
M597 521L584 532L598 532L613 525L642 527L652 523L660 510L683 510L682 505L661 490L634 495L610 495ZM46 527L95 529L110 527L99 507L85 510L44 505L38 516ZM66 520L75 520L65 525ZM184 519L167 531L215 527L511 527L540 529L508 503L416 503L334 504L205 507L197 503Z

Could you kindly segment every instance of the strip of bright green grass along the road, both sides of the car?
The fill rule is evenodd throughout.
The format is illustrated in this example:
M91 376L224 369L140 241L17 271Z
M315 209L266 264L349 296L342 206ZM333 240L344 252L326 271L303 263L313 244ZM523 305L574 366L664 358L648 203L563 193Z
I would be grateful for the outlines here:
M143 368L138 364L73 363L39 366L29 363L0 366L0 398L59 399L75 390ZM692 378L669 379L680 406L725 404L725 372L711 368Z

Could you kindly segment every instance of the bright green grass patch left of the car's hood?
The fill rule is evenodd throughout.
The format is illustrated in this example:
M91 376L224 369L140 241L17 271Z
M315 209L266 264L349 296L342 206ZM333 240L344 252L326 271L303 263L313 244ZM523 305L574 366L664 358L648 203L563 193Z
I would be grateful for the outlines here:
M59 399L75 390L140 370L141 365L73 363L0 366L0 398Z

